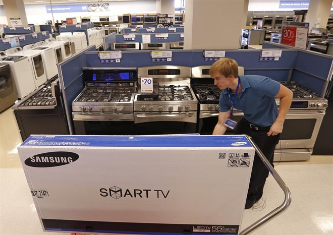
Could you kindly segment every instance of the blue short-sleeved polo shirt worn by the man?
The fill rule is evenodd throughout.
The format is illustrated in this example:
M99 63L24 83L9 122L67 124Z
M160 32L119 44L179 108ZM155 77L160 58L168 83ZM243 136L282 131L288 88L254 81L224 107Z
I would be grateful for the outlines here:
M238 76L241 93L237 95L234 108L244 112L244 118L260 127L271 126L279 114L275 95L279 93L280 83L258 75ZM232 106L235 93L229 88L221 91L219 110L226 112Z

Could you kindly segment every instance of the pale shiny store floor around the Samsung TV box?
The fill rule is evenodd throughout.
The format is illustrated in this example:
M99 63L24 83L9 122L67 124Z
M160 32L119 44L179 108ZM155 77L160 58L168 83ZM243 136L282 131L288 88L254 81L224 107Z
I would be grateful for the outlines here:
M16 150L20 141L12 110L0 113L0 234L69 234L42 231ZM275 169L289 187L292 203L252 234L333 234L333 156L281 162ZM244 211L241 229L278 207L283 198L270 175L263 200Z

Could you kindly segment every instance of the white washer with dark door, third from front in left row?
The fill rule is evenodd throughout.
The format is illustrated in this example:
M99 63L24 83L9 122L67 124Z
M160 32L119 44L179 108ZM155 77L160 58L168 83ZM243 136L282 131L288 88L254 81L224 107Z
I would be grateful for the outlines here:
M23 55L29 58L36 88L46 82L45 65L43 56L40 51L23 50L21 52L15 53L15 55Z

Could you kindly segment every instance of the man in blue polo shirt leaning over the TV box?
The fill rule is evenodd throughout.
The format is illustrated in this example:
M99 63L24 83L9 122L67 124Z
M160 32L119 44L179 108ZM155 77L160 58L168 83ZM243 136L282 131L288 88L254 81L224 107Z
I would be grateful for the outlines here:
M273 165L275 145L279 142L293 92L264 76L238 76L238 64L232 58L216 61L210 67L210 76L222 90L218 122L213 135L225 134L226 125L237 125L236 134L251 136ZM280 98L279 110L274 98ZM232 120L233 108L244 113L244 118L238 124ZM251 208L261 198L268 173L260 157L255 154L245 209Z

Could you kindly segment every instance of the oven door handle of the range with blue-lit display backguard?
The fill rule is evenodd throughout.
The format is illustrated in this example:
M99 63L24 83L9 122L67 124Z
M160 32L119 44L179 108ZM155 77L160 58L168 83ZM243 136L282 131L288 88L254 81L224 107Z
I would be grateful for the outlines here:
M73 121L134 121L133 112L73 113Z

